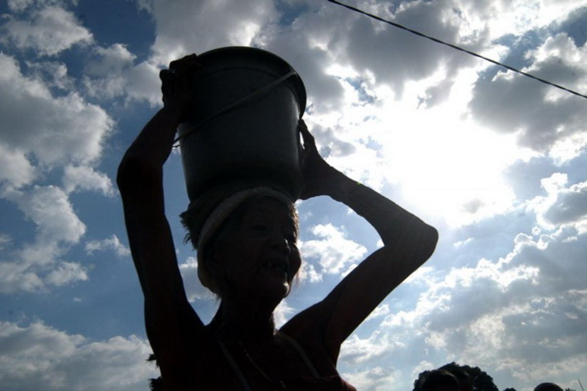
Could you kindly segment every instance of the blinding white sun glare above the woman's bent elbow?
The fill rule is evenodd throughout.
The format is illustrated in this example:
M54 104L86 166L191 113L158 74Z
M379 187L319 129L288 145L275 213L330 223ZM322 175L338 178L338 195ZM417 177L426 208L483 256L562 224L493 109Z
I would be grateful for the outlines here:
M512 135L475 125L450 106L403 110L381 144L390 165L387 179L402 189L403 198L461 226L514 206L503 172L531 154Z

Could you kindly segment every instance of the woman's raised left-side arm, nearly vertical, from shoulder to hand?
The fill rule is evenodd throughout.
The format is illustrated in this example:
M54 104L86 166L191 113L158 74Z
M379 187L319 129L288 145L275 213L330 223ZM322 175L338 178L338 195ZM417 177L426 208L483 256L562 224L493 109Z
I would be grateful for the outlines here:
M177 362L185 362L183 328L203 327L185 297L163 199L163 164L190 103L190 91L182 79L194 61L195 56L184 57L170 64L174 73L161 71L164 107L126 151L117 175L130 250L145 300L147 336L163 373L181 370Z

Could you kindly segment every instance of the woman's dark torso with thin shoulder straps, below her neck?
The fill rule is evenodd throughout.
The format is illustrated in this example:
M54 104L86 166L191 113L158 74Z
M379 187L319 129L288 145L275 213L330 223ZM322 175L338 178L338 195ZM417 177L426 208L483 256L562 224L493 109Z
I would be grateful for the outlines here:
M205 390L354 390L340 379L332 359L311 333L276 332L259 344L206 327L185 346L187 387ZM306 334L306 336L304 336ZM182 376L183 377L183 376Z

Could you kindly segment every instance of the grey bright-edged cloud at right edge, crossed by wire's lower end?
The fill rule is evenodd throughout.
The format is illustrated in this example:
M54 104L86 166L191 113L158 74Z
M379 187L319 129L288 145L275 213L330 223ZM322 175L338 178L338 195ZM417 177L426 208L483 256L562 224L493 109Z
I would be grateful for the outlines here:
M586 76L579 55L568 36L548 39L547 58L535 60L527 72L554 83L575 86ZM556 53L559 52L559 55ZM573 54L574 53L574 54ZM519 145L548 152L556 141L585 132L585 100L564 93L548 100L554 87L519 74L500 73L492 80L478 79L470 102L474 120L502 133L517 133Z

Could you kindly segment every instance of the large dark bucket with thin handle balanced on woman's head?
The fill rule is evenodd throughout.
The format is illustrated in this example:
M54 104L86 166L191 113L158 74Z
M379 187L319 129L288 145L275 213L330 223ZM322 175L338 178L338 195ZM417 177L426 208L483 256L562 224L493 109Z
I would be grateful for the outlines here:
M266 185L292 200L302 186L298 120L302 80L280 57L252 47L221 47L198 56L195 104L178 127L190 200L228 182Z

